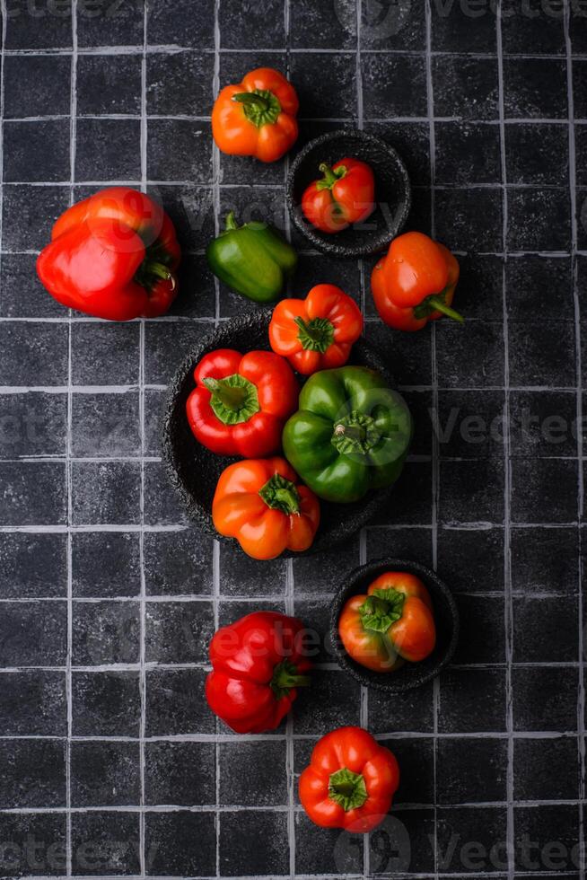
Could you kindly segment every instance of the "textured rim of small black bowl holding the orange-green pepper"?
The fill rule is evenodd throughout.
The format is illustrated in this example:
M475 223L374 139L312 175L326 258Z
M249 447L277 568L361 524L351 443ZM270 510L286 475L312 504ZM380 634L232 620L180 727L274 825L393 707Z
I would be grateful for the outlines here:
M402 681L398 678L397 673L371 672L361 664L355 663L355 660L348 656L338 636L338 618L347 599L364 590L364 585L360 585L360 583L363 583L365 577L374 580L375 577L383 574L385 571L407 571L418 576L425 586L428 587L434 605L437 605L439 602L444 603L448 611L448 617L451 619L451 636L447 647L442 654L439 654L434 666L417 679ZM436 618L436 622L438 622L438 618ZM373 688L376 691L385 691L388 694L412 691L432 681L442 671L444 666L450 663L452 656L454 656L459 641L459 629L459 610L449 587L432 568L428 568L421 562L413 562L410 559L373 559L372 562L367 562L366 565L355 568L346 577L345 582L339 587L332 603L330 603L329 637L338 663L347 673L353 676L355 681L364 684L365 687ZM416 667L418 664L412 665Z

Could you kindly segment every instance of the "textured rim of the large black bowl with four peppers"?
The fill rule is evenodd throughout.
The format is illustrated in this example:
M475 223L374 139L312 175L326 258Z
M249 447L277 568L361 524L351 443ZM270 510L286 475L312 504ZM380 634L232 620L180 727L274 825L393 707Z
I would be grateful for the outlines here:
M178 406L178 399L182 392L182 385L187 380L188 374L193 373L197 362L201 360L207 352L214 351L215 348L234 348L234 343L231 343L231 338L235 332L245 330L251 325L255 325L258 329L261 329L263 324L266 324L268 327L271 314L271 309L245 312L236 318L223 321L223 323L213 332L198 339L197 343L188 351L188 354L184 356L173 374L164 400L162 418L162 461L169 480L171 480L171 484L179 493L180 502L188 515L188 519L192 523L197 524L197 527L201 532L214 537L218 541L223 541L223 543L229 543L233 546L238 546L237 542L232 538L225 538L223 535L216 532L210 510L192 495L180 477L177 463L180 451L177 449L174 442L171 421L174 411ZM354 363L357 354L359 355L359 360L366 359L367 361L370 361L373 368L381 374L384 381L389 384L391 388L394 387L394 380L390 374L388 366L381 359L379 353L366 343L364 339L359 339L355 342L353 353L349 359L350 364ZM363 357L361 357L361 355L363 355ZM226 466L233 461L235 461L235 459L227 457ZM360 506L353 506L351 508L351 506L337 505L341 513L341 520L344 518L346 511L347 515L353 516L352 523L349 523L344 529L341 529L340 532L330 530L329 532L322 533L320 532L322 527L320 524L320 528L316 533L316 538L309 550L305 550L302 553L285 551L281 554L279 559L297 559L302 556L309 556L314 553L332 550L340 544L341 541L355 537L355 534L358 533L365 524L370 522L381 511L382 507L388 503L392 490L393 486L373 491L364 498L364 501ZM321 502L321 504L324 505L326 502Z

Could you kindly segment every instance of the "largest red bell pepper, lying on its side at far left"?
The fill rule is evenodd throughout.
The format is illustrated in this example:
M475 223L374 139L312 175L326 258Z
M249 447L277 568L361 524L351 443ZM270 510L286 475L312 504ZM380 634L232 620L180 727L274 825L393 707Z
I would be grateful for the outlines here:
M178 292L180 245L160 205L112 187L68 208L37 260L58 303L94 318L130 321L165 314Z

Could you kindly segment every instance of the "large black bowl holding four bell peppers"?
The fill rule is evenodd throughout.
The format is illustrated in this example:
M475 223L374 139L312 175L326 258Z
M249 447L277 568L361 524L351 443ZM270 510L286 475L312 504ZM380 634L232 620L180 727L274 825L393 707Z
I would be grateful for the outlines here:
M180 493L189 519L202 531L214 535L220 541L232 539L223 538L215 531L211 514L212 499L221 472L238 459L215 455L197 442L188 426L186 401L194 388L194 367L207 352L214 351L215 348L236 348L243 352L269 350L270 319L270 309L248 312L226 321L215 333L198 341L178 367L167 394L163 416L163 461L171 482ZM394 387L393 379L381 356L362 339L355 342L349 363L377 370L384 382ZM391 489L392 487L372 492L353 504L334 505L320 501L320 529L307 552L329 550L340 541L352 539L389 502Z

